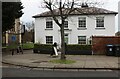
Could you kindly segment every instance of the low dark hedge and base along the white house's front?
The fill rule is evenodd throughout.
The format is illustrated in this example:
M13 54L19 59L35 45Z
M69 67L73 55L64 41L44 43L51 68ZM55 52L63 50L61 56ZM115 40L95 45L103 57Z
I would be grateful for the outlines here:
M66 54L70 55L91 55L91 45L67 45L65 49ZM34 44L34 53L50 54L54 52L53 45L46 44Z

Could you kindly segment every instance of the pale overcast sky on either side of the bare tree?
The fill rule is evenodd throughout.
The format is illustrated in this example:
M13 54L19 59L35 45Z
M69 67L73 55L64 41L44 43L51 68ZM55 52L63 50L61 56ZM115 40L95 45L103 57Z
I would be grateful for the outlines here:
M43 0L21 0L24 6L24 9L23 9L24 14L20 18L21 21L25 23L34 21L34 18L32 18L32 16L45 12L47 9L42 8L42 4L43 4L42 1ZM118 2L120 0L91 0L91 1L102 2L104 4L101 5L100 7L107 9L107 10L118 12ZM118 16L116 16L116 31L118 29L118 18L117 17Z

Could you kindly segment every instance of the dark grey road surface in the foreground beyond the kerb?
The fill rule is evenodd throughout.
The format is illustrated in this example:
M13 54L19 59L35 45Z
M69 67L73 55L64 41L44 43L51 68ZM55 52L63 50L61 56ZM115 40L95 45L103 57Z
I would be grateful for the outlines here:
M3 68L2 76L4 77L109 77L113 79L118 77L118 71L49 71L35 70L30 68ZM75 78L75 79L76 79ZM74 79L74 78L73 78ZM103 78L102 78L103 79Z

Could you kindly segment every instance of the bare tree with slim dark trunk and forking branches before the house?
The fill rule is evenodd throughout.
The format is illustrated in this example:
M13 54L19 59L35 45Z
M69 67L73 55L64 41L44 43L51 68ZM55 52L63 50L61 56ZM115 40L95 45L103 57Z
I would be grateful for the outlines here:
M64 42L64 22L65 19L68 17L68 15L74 10L74 0L72 0L71 2L68 1L62 1L60 0L55 1L57 6L54 3L54 0L44 0L44 3L46 4L46 7L50 10L52 17L54 19L54 21L56 22L56 24L60 27L60 32L61 32L61 60L65 60L65 42ZM56 14L54 14L54 10L55 8L58 8L58 12L59 12L59 16L60 16L60 20L58 20L58 16L56 16Z

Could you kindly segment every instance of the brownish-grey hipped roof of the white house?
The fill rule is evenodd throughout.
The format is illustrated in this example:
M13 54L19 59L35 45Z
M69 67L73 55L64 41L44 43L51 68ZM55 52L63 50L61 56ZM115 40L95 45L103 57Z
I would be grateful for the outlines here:
M63 14L66 14L66 12L70 10L69 8L65 8L63 9ZM54 14L56 16L60 15L60 11L59 9L54 9L53 10ZM74 8L73 12L70 13L70 15L98 15L98 14L118 14L117 12L114 11L109 11L103 8L97 8L97 7L82 7L82 8ZM35 16L33 16L34 18L38 18L38 17L50 17L51 12L50 11L46 11L43 12L41 14L37 14Z

